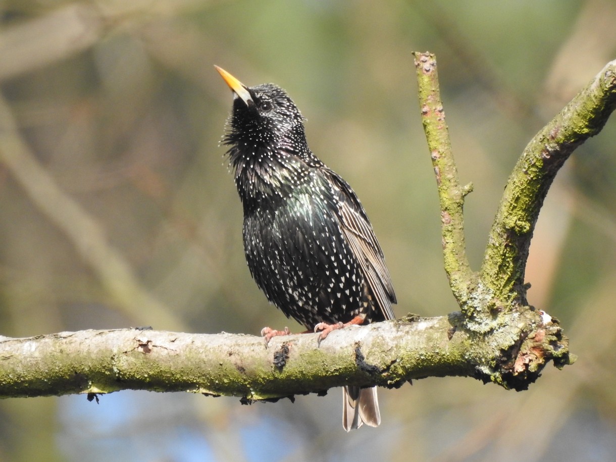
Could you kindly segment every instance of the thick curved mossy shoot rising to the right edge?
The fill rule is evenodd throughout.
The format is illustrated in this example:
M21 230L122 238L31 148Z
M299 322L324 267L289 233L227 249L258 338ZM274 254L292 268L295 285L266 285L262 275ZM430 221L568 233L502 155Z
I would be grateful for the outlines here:
M533 137L507 181L485 249L480 280L506 302L525 305L524 270L541 205L556 173L616 108L616 60Z

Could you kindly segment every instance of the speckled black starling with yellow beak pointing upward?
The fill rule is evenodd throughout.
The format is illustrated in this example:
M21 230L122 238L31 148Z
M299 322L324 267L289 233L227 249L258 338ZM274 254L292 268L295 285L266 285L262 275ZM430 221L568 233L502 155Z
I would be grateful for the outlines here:
M318 160L304 118L274 84L246 87L216 66L233 91L224 137L244 208L246 262L265 296L310 331L393 319L394 288L359 199ZM265 328L266 341L288 334ZM344 387L346 431L381 423L376 387Z

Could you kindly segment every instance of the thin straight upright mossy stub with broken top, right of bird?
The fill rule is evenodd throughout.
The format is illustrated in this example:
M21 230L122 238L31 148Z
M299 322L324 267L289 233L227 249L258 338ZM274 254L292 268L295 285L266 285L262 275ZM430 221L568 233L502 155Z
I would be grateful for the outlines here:
M464 244L464 197L472 184L461 187L452 154L445 111L440 100L436 59L431 53L414 53L419 87L419 107L439 192L445 271L453 294L464 305L476 283Z

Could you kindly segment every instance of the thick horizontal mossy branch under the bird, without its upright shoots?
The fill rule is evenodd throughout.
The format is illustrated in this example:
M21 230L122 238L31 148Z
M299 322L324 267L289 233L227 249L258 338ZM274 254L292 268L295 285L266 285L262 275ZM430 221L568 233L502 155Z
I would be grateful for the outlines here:
M535 313L477 336L463 317L403 318L317 334L259 337L153 330L79 331L0 341L0 397L122 389L275 399L355 384L399 387L426 376L474 376L525 389L567 339Z

